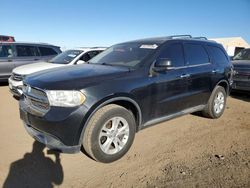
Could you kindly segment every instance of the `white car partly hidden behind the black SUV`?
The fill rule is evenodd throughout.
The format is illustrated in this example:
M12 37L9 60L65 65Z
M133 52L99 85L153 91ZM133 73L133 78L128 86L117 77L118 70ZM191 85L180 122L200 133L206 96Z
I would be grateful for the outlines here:
M19 97L22 95L25 76L46 69L85 63L105 49L103 47L75 48L62 52L48 62L32 63L17 67L12 71L12 75L8 79L10 91L14 96Z

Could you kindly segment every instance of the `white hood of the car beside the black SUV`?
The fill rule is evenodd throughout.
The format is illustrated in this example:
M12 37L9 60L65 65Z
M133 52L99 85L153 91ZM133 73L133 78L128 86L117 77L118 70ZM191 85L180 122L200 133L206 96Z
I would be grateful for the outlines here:
M28 75L34 72L46 70L46 69L51 69L51 68L56 68L56 67L62 67L65 66L63 64L55 64L55 63L48 63L48 62L41 62L41 63L32 63L32 64L27 64L23 65L20 67L17 67L13 70L15 74L20 74L20 75Z

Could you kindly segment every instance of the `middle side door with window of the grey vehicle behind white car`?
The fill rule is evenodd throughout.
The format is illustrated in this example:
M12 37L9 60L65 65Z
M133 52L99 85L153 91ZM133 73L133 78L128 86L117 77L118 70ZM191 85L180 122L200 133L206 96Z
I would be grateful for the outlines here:
M39 61L39 52L36 46L33 45L15 45L16 57L14 66L18 67L25 64L36 63Z

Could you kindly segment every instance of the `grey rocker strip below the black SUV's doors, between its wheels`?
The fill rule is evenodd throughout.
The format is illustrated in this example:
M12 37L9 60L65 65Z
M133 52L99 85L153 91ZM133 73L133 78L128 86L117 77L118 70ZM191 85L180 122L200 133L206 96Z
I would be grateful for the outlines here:
M154 124L157 124L157 123L160 123L160 122L163 122L163 121L173 119L173 118L178 117L178 116L182 116L182 115L185 115L185 114L191 114L193 112L201 111L201 110L203 110L205 108L205 106L206 105L199 105L199 106L195 106L195 107L192 107L192 108L185 109L183 111L180 111L180 112L177 112L177 113L174 113L174 114L170 114L170 115L167 115L167 116L163 116L163 117L160 117L160 118L149 120L142 127L147 127L147 126L150 126L150 125L154 125Z

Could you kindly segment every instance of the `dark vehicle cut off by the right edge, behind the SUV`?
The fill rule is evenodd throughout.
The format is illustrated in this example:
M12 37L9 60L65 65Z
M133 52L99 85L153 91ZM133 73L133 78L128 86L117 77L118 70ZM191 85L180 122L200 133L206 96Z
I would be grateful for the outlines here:
M250 91L250 48L241 50L232 60L233 90Z

